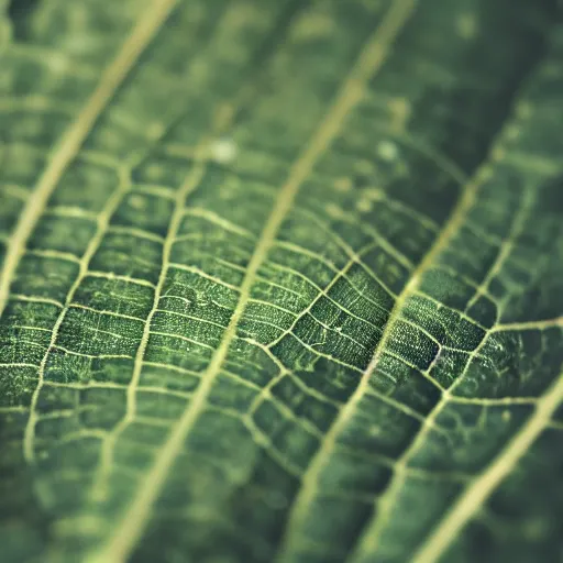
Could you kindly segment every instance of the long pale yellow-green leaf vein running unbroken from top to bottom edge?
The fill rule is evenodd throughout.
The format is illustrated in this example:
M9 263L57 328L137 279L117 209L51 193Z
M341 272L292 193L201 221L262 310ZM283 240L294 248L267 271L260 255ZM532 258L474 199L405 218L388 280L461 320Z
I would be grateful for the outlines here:
M163 449L156 453L155 464L150 470L146 478L139 485L139 494L132 499L122 519L115 526L115 532L104 545L87 558L88 563L122 563L128 560L135 548L147 525L154 503L163 490L174 461L181 451L186 438L206 405L209 393L227 357L231 342L236 335L238 324L250 299L251 289L260 266L264 262L282 223L291 209L299 188L310 175L319 156L322 155L339 133L349 112L363 98L366 81L382 67L389 46L402 29L415 5L416 0L397 0L393 2L382 24L362 51L356 64L336 95L335 101L313 134L311 142L292 165L287 181L280 188L273 211L266 221L260 242L249 263L235 310L197 391Z

